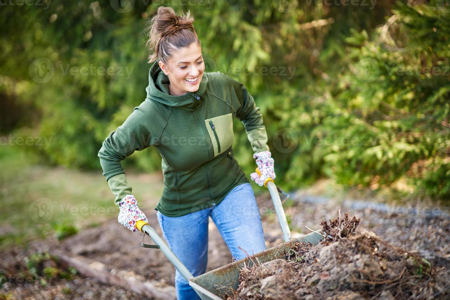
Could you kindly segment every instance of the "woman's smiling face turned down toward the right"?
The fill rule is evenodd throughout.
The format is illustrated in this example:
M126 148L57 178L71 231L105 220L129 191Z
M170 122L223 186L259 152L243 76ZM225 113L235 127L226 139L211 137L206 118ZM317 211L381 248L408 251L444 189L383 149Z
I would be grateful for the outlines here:
M189 47L175 51L168 59L168 65L159 61L159 67L169 77L171 95L181 96L196 92L205 71L202 49L197 43L192 43Z

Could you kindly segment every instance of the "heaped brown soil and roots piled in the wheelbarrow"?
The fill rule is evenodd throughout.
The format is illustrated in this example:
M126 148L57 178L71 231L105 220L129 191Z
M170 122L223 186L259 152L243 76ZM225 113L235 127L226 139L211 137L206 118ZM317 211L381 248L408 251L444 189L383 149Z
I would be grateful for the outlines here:
M322 221L318 245L297 242L284 259L243 267L228 299L436 299L449 291L446 269L359 223L348 213Z

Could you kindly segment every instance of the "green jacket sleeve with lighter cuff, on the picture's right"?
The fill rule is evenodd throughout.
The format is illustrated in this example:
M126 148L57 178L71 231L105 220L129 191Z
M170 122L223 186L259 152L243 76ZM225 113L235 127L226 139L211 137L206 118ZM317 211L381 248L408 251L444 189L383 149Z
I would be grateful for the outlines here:
M227 75L226 75L227 76ZM256 106L252 95L247 88L239 81L227 76L234 88L234 93L239 101L240 107L236 111L236 117L242 121L247 133L247 138L252 145L254 153L270 151L267 145L266 126L263 125L262 115L259 107Z

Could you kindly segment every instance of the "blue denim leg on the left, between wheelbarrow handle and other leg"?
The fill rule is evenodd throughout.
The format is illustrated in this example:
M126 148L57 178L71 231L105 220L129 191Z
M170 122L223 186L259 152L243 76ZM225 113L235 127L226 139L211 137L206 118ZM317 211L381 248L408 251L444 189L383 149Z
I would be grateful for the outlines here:
M194 277L206 271L210 211L207 208L179 217L168 217L157 211L159 226L167 245ZM200 299L177 269L175 292L178 300Z

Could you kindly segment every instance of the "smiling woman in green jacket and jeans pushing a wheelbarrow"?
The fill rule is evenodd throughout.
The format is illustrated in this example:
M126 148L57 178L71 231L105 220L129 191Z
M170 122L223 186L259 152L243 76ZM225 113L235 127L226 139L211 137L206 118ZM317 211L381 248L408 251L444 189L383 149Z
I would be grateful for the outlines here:
M121 160L135 150L154 146L162 157L164 190L157 219L171 250L193 276L207 267L208 218L211 216L235 260L266 249L253 189L233 157L233 119L242 121L254 151L262 186L275 179L273 158L259 107L245 86L220 72L206 73L200 41L188 12L177 16L159 7L149 21L153 54L147 98L123 125L109 134L99 151L103 175L115 203L119 223L136 231L147 222L127 184ZM175 272L178 299L199 299Z

